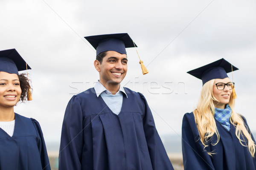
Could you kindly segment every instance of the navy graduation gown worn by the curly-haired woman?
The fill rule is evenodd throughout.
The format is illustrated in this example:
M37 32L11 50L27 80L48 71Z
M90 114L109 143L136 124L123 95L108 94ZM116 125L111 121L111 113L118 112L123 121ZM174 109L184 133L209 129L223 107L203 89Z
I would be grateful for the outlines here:
M39 123L15 113L13 136L0 128L0 170L50 170Z

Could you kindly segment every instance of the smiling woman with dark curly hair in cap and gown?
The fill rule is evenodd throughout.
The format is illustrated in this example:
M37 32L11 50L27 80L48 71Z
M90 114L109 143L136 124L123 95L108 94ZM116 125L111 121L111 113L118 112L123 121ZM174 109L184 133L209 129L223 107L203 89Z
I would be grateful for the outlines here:
M30 92L18 71L31 69L15 49L0 51L0 170L50 170L39 123L14 112Z

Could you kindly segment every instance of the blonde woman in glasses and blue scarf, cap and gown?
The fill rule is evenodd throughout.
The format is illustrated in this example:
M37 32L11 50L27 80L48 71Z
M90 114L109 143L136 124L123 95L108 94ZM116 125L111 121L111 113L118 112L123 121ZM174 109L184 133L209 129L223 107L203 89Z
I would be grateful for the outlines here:
M234 111L238 70L225 59L188 73L203 81L197 108L182 122L185 170L256 170L255 141L246 119Z

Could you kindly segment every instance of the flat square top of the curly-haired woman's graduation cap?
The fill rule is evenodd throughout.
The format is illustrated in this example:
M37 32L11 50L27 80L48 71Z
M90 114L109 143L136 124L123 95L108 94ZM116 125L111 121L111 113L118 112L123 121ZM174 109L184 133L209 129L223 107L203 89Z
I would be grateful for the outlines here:
M8 59L11 59L16 67L18 71L23 71L26 69L31 69L31 67L29 65L27 65L26 68L26 62L25 60L20 56L20 54L16 51L16 49L9 49L9 50L3 50L0 51L0 58L5 57ZM0 65L0 71L2 70L1 68L4 67L3 65Z

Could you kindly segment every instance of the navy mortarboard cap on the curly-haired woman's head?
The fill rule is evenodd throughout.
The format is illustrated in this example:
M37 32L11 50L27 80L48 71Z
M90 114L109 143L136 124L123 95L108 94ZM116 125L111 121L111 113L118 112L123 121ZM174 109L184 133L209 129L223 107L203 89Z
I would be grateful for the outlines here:
M19 75L18 71L31 69L15 49L0 51L0 71Z

